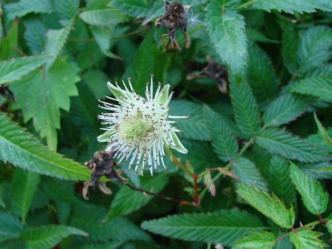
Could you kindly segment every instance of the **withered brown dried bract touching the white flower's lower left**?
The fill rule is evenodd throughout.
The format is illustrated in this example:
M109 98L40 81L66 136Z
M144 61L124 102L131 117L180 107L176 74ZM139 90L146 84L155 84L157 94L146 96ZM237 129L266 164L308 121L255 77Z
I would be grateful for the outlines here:
M84 163L85 166L91 171L91 178L89 181L84 183L83 187L83 198L89 200L86 197L88 188L90 186L98 186L99 189L105 194L111 194L111 189L106 187L105 182L99 182L101 176L105 176L110 180L116 180L126 182L127 179L119 175L118 171L114 169L116 163L113 161L113 153L110 151L96 151L94 157Z

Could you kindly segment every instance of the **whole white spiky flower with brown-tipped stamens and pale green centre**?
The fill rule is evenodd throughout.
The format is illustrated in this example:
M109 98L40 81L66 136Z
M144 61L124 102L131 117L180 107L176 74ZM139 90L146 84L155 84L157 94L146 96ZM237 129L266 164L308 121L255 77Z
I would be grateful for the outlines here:
M107 97L117 101L118 104L111 104L100 101L103 109L110 110L108 113L101 113L98 118L103 120L102 124L109 125L106 132L98 136L100 142L109 142L106 150L112 150L119 158L129 160L129 169L135 165L135 172L142 172L147 162L153 175L153 167L157 170L160 164L166 169L163 157L165 156L164 146L173 148L181 153L187 153L175 132L180 132L177 127L172 126L175 121L170 119L188 118L189 116L169 116L168 104L173 92L169 94L170 85L165 85L161 90L159 82L158 89L153 95L153 75L151 76L150 91L149 83L146 83L146 98L135 93L130 78L128 78L129 89L122 80L124 89L119 84L107 83L115 98ZM141 165L142 168L139 168Z

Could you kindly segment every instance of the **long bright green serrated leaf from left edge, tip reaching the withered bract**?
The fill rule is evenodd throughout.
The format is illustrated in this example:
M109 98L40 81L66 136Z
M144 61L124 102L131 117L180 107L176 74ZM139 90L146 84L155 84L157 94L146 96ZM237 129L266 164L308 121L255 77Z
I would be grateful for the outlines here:
M4 113L0 113L0 159L57 178L86 181L90 177L86 167L48 150Z

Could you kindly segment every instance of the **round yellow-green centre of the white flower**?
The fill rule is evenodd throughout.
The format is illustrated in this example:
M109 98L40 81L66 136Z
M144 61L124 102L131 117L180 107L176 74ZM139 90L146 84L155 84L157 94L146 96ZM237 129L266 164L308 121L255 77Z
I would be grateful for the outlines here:
M135 143L143 139L148 133L150 127L148 123L141 118L142 114L128 118L121 122L119 127L119 136L129 142Z

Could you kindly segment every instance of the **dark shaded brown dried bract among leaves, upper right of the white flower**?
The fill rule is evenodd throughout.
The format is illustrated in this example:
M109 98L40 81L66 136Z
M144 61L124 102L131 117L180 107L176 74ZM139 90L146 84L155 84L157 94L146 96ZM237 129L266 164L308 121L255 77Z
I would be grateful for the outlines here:
M228 93L227 83L228 83L228 73L227 68L223 67L218 62L212 60L211 56L206 56L207 64L195 63L194 65L190 65L188 69L193 67L193 70L200 70L198 74L188 74L187 79L199 78L199 77L210 77L214 78L218 83L218 88L221 93Z

